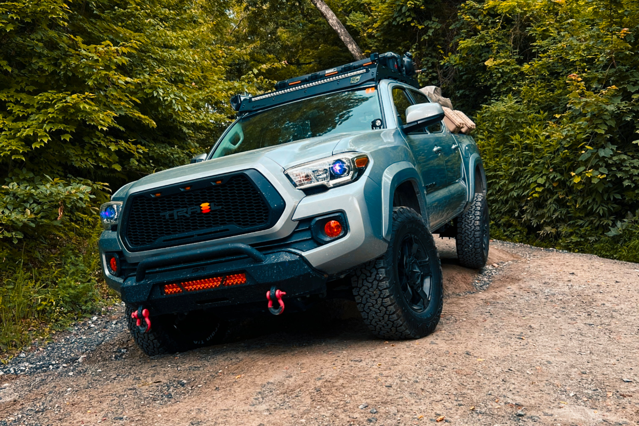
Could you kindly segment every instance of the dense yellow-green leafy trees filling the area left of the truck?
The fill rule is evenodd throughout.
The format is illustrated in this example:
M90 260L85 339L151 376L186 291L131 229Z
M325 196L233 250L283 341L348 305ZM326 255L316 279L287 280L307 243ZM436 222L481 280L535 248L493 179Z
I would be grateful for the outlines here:
M0 4L0 244L70 232L95 217L109 187L211 145L232 112L229 95L256 83L252 71L227 78L247 56L229 44L229 7Z

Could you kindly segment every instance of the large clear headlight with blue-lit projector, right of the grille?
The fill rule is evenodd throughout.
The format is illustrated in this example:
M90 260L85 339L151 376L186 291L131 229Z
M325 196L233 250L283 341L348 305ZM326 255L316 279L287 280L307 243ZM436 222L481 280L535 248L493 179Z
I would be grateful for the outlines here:
M364 173L367 164L366 154L345 152L291 167L284 173L297 189L307 189L318 185L332 188L356 180Z

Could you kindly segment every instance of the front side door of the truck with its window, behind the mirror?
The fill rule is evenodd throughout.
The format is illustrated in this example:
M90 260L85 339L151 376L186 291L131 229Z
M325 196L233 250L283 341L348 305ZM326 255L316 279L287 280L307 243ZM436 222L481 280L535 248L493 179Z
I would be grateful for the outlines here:
M392 88L392 99L397 111L397 125L406 124L406 108L413 105L413 99L401 86ZM431 229L441 225L445 220L445 193L448 185L443 157L443 146L437 144L426 129L404 134L413 156L415 167L421 173L426 193L426 209Z

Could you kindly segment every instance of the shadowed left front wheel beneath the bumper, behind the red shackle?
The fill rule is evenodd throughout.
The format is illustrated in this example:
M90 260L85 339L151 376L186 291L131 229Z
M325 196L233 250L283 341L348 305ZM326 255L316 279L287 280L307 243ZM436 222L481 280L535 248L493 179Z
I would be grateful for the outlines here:
M151 317L151 329L145 332L131 317L135 310L127 305L128 330L135 343L148 356L174 354L212 345L226 335L224 324L204 311Z

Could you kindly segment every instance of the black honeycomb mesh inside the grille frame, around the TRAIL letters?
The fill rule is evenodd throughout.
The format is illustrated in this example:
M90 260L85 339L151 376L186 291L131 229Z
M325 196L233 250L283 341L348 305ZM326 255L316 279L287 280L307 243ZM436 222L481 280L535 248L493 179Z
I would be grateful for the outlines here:
M192 212L189 217L161 213L176 209L198 207L210 203L217 207L208 213ZM268 223L269 207L261 198L258 189L245 175L229 178L220 185L193 189L183 193L148 198L137 196L132 200L128 212L126 239L132 248L150 246L162 237L224 226L254 228ZM220 235L221 236L221 235ZM224 235L226 236L226 235ZM174 244L183 244L175 241ZM163 244L166 246L167 244ZM171 244L169 244L171 245Z

